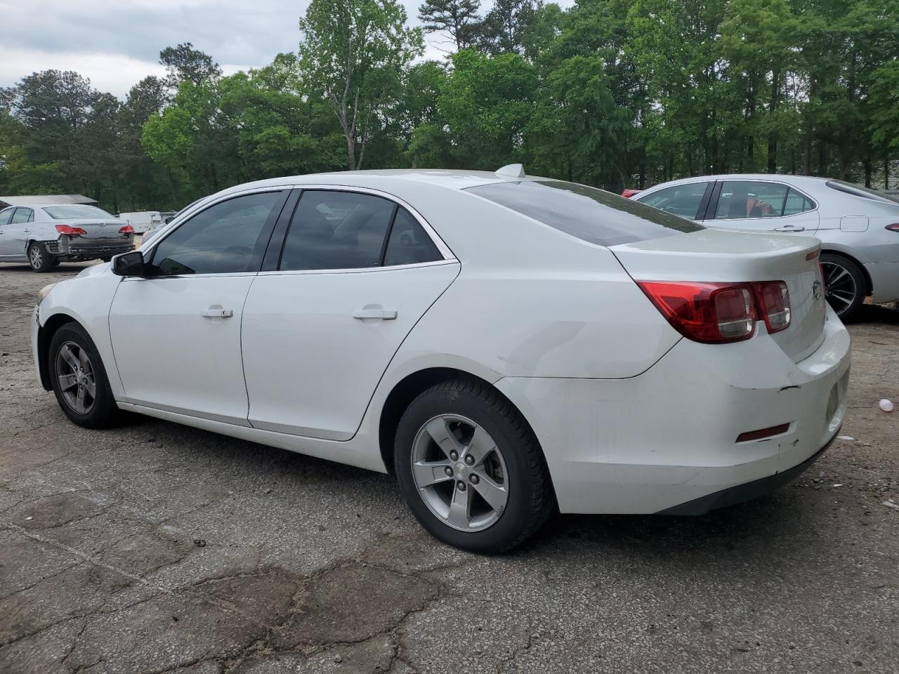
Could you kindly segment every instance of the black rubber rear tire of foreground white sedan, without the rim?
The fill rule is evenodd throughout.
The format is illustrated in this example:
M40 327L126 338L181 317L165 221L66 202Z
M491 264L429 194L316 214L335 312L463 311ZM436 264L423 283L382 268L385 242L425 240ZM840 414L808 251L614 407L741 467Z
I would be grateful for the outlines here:
M508 502L493 526L466 532L438 519L422 500L412 475L415 435L440 414L459 414L482 426L501 449L508 470ZM475 379L451 379L432 386L406 408L396 430L396 478L406 505L433 537L481 554L511 550L533 535L556 505L546 460L537 437L503 395Z

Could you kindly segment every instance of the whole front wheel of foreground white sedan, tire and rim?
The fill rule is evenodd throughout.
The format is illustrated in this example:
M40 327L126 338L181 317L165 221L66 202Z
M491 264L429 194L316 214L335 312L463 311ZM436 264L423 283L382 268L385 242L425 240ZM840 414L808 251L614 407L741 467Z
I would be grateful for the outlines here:
M93 340L81 325L67 323L53 334L48 366L53 393L69 419L86 429L116 425L120 411L112 397L106 369ZM76 368L84 368L84 371L76 372ZM65 386L64 379L71 385ZM90 392L92 384L93 395ZM82 391L83 397L79 398Z

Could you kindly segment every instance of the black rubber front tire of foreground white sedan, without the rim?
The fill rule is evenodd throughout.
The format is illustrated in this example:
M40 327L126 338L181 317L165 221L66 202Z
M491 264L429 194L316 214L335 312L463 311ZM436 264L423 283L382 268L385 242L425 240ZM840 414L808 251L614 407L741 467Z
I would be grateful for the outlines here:
M79 414L69 407L59 387L56 364L57 354L60 347L67 341L74 341L78 347L85 350L88 358L91 359L96 396L93 407L85 414ZM112 397L112 390L109 385L109 379L106 377L106 368L103 367L100 353L94 346L90 335L87 334L81 325L74 321L62 325L53 334L53 339L50 340L47 358L53 393L56 394L59 407L62 408L62 411L69 419L85 429L106 429L118 425L124 414L116 406L115 399Z

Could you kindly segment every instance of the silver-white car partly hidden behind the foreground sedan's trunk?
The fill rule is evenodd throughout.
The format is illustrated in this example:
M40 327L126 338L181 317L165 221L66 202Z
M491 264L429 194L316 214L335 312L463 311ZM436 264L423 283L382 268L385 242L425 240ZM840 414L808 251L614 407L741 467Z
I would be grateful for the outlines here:
M827 299L844 320L866 296L899 300L899 197L806 175L706 175L633 199L704 225L821 239Z

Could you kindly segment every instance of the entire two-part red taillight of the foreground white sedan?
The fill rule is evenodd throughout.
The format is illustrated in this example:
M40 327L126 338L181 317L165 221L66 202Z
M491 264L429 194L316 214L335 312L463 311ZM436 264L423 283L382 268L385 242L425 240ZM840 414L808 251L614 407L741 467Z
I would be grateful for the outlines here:
M725 344L748 340L755 333L756 320L763 320L769 333L789 327L789 290L783 281L637 281L637 285L668 323L693 341Z

